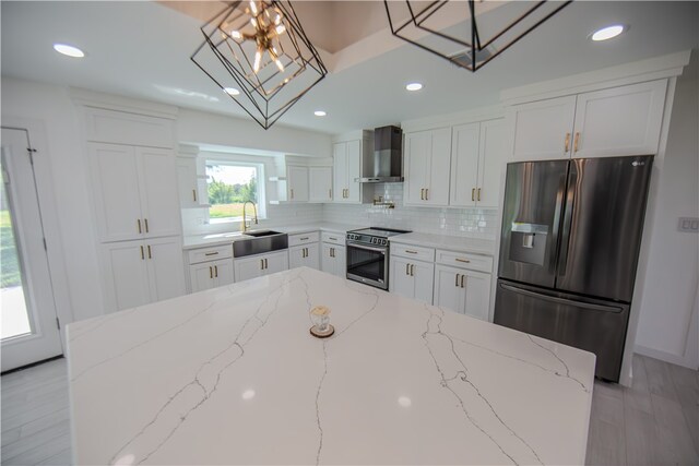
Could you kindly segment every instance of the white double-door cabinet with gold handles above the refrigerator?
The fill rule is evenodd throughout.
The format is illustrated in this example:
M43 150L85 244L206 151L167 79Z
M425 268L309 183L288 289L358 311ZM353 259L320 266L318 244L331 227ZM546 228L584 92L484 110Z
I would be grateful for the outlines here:
M667 81L650 81L511 108L516 160L655 154Z

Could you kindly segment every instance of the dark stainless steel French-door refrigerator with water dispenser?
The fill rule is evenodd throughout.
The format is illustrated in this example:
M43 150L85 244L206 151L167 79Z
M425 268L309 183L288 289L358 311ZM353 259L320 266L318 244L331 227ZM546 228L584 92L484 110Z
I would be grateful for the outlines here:
M495 323L594 353L618 382L652 165L508 164Z

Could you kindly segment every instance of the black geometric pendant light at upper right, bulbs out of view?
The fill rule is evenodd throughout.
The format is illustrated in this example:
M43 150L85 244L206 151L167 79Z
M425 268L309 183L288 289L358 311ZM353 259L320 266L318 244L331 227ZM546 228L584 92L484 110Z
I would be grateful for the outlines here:
M383 0L383 4L394 36L475 72L571 1Z

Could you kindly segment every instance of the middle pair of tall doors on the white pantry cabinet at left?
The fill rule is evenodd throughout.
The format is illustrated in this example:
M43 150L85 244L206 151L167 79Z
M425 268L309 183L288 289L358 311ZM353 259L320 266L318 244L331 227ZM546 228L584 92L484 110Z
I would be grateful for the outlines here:
M90 159L103 242L179 235L171 151L91 143Z

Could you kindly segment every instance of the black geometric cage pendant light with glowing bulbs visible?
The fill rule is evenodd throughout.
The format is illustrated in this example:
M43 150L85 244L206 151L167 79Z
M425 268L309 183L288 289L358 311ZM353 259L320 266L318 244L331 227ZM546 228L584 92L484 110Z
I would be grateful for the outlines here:
M230 2L201 32L191 60L265 130L328 74L291 1Z

